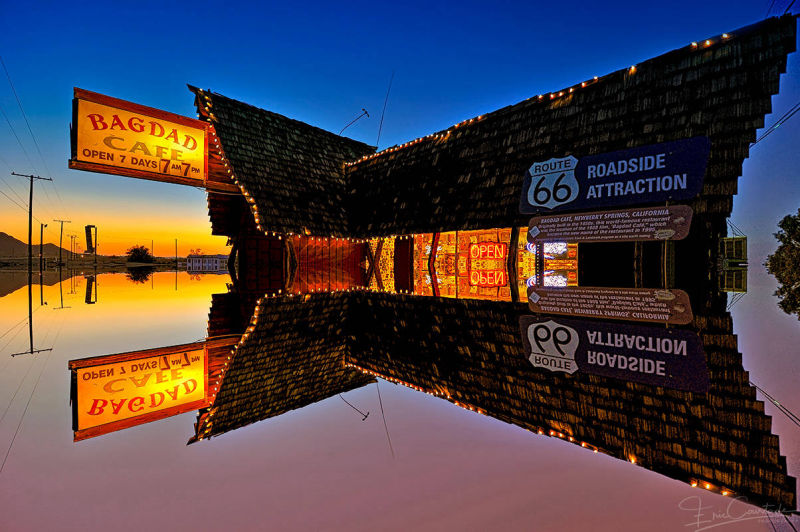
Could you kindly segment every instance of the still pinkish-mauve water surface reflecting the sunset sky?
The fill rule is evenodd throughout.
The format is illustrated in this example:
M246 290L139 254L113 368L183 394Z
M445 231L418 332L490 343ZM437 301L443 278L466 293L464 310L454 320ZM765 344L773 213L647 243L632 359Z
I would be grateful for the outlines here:
M745 369L800 410L800 328L775 306L771 278L750 279L733 309ZM343 394L366 420L334 395L189 446L196 412L74 443L67 361L201 340L211 296L229 282L101 274L86 304L79 275L42 287L44 306L36 285L34 347L52 351L15 357L29 348L27 289L0 299L0 334L10 330L0 529L789 530L753 506L382 379ZM800 433L766 411L797 476Z

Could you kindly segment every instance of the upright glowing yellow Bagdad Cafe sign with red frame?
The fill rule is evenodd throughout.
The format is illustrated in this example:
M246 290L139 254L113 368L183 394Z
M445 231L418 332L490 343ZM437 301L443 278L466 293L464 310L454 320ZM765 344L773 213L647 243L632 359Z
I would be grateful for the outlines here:
M203 186L208 124L75 88L69 167Z

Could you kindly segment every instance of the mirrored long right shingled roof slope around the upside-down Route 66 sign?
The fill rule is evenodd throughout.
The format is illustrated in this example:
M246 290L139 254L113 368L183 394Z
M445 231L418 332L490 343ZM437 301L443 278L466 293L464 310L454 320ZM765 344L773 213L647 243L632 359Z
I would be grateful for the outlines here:
M714 307L724 300L711 302ZM711 388L693 394L533 368L510 303L353 294L350 367L533 432L752 503L794 508L771 420L748 384L730 316L697 316ZM535 445L535 442L532 442Z

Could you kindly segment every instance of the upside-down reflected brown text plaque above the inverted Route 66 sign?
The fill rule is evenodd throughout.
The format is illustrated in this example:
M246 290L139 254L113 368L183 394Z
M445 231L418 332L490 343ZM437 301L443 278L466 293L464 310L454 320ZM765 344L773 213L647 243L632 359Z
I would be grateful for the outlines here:
M652 288L528 288L533 312L627 321L673 323L692 321L692 306L683 290Z

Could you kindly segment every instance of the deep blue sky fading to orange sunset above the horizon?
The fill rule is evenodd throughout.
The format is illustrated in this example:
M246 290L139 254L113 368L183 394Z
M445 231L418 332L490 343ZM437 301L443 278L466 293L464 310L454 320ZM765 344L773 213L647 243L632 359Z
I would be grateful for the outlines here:
M0 117L0 190L24 204L26 180L12 170L54 179L35 190L46 242L57 242L52 220L61 218L72 221L66 233L97 225L104 254L152 240L156 254L169 255L175 238L180 254L224 252L225 239L210 235L203 191L67 169L73 87L194 117L191 83L334 132L366 108L369 118L346 134L374 145L394 72L385 148L788 3L14 3L0 19L0 55L36 143L0 72L0 106L13 127ZM800 100L798 72L793 56L767 125ZM796 211L798 130L795 118L754 148L741 192L758 201L736 212L741 224L774 227ZM27 238L25 210L2 194L0 231Z

